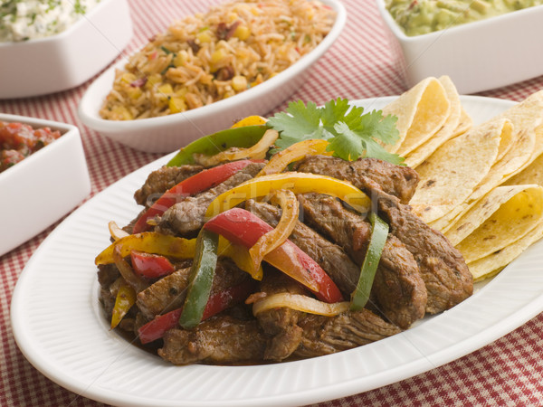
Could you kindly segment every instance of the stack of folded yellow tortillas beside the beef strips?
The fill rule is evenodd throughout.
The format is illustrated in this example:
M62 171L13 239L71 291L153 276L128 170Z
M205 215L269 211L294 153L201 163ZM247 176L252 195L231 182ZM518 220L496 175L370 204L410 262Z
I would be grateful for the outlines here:
M383 111L398 117L389 150L421 178L414 213L452 241L475 280L543 236L543 90L476 126L448 77L421 81Z

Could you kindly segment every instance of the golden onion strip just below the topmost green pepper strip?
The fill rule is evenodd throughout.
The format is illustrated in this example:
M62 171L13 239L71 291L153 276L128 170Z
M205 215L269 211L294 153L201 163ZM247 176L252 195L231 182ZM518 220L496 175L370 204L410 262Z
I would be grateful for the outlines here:
M252 147L231 147L214 156L195 154L195 162L201 166L216 166L224 161L236 161L241 159L264 159L271 145L277 140L279 133L276 130L267 130L262 138Z

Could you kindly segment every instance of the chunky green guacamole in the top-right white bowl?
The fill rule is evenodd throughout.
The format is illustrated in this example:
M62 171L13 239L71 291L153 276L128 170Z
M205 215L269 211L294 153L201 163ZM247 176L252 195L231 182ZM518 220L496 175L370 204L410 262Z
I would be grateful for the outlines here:
M405 34L413 36L543 5L543 0L385 0L385 4Z

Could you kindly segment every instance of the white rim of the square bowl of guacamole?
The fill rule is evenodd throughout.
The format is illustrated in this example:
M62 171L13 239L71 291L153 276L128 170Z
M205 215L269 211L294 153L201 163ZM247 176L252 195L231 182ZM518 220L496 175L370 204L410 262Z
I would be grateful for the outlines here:
M483 28L485 25L490 26L494 24L500 24L503 21L521 18L521 16L524 14L533 13L534 9L543 10L543 5L532 5L530 7L526 7L520 10L515 10L509 13L491 16L491 17L484 18L478 21L452 25L450 27L443 28L442 30L439 30L439 31L433 31L432 33L423 33L419 35L409 36L405 34L404 30L402 30L400 25L395 22L395 19L392 17L392 14L388 12L388 10L386 9L385 0L375 0L375 1L377 4L379 13L381 14L381 17L385 21L386 25L392 31L392 33L394 33L395 37L398 40L402 41L403 43L416 43L422 40L427 40L427 41L437 40L442 35L454 35L454 33L461 33L462 31L477 30L480 27Z

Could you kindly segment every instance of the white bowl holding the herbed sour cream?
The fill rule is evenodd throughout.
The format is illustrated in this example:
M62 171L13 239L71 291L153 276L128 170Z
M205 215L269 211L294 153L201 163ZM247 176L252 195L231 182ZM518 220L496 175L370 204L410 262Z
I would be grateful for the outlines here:
M66 31L0 43L0 99L68 90L100 72L132 37L127 0L101 0Z

